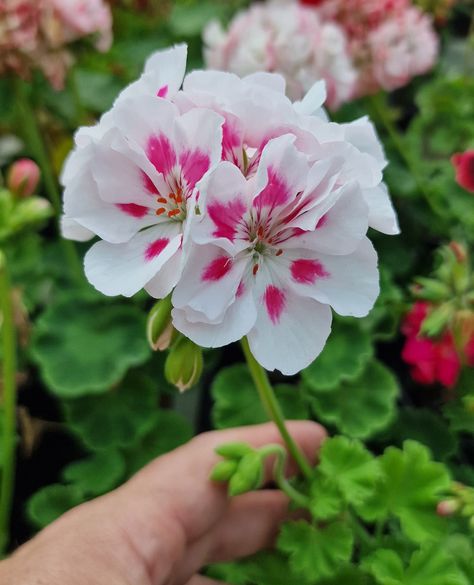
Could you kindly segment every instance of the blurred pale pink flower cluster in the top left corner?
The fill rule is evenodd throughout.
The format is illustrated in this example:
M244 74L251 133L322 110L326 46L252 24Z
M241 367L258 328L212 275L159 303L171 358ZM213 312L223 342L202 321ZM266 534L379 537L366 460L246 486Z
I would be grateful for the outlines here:
M0 0L0 75L28 77L40 69L61 89L72 62L66 45L95 35L99 51L112 42L105 0Z

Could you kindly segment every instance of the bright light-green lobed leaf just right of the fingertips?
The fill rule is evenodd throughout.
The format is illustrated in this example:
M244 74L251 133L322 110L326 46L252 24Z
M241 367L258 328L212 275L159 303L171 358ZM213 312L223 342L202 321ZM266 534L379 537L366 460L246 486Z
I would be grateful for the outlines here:
M320 472L330 478L349 504L360 505L373 494L380 477L375 457L354 439L334 437L323 443Z

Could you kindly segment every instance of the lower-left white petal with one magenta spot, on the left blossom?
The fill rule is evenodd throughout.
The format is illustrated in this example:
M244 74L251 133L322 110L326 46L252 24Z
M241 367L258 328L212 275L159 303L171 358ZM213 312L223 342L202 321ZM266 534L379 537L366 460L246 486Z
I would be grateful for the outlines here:
M138 233L126 244L97 242L87 252L87 279L101 293L131 297L178 252L180 228L169 222Z

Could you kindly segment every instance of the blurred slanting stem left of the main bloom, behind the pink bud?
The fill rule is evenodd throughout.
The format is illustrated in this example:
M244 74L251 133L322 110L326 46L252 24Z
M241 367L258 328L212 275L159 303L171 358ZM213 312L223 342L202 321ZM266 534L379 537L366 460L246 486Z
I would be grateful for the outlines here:
M31 107L25 82L20 78L15 78L13 83L15 85L18 113L20 116L20 123L23 127L24 136L28 147L31 149L31 154L41 168L44 186L48 193L49 200L53 205L56 214L56 222L58 222L62 208L61 196L59 194L59 188L51 165L49 153L38 126L35 112ZM82 282L82 263L75 245L70 240L64 238L61 238L61 245L63 246L64 255L66 256L68 266L70 266L74 278L78 282Z

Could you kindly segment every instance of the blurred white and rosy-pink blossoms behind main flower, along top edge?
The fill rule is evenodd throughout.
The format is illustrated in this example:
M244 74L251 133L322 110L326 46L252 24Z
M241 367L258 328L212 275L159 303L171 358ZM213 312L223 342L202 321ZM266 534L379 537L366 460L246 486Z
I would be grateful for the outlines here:
M328 106L406 85L429 71L438 39L431 18L409 0L267 0L204 32L209 67L285 76L301 98L318 79Z

